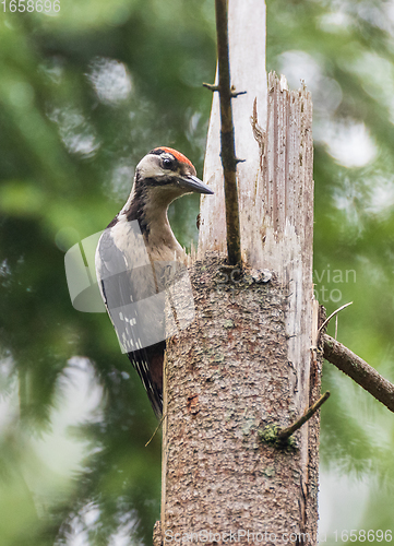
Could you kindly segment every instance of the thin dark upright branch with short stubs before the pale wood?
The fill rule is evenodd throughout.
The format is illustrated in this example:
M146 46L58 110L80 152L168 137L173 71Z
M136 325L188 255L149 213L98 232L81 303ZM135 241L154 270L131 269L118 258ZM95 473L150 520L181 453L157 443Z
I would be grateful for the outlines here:
M230 83L228 55L227 0L215 0L217 58L219 68L218 92L220 96L220 157L225 179L226 228L228 262L241 263L241 239L239 225L237 157L234 141L231 98L237 94ZM213 91L215 86L213 86Z

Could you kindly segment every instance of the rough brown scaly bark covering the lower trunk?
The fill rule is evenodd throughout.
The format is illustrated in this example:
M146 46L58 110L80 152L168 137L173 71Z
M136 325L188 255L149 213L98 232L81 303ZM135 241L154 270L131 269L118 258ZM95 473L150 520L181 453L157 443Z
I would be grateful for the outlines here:
M264 427L298 417L288 287L250 274L224 282L223 264L216 256L195 264L196 319L168 348L163 536L224 544L231 532L240 542L249 533L250 542L254 534L263 544L286 544L291 535L314 544L308 520L317 473L313 466L306 480L302 431L288 450L259 438Z

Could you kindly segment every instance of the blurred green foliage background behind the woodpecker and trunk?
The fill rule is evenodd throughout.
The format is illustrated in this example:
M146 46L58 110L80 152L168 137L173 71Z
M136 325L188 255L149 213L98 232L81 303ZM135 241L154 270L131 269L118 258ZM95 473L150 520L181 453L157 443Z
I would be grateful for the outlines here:
M60 2L56 16L0 3L0 542L151 544L155 418L106 316L72 308L63 260L119 211L152 147L179 149L202 173L213 0ZM354 301L338 337L392 381L393 25L392 1L267 4L268 70L303 78L314 98L319 299L329 312ZM186 246L198 206L188 197L170 211ZM68 429L73 464L50 438L62 441L57 416L82 377L97 400ZM393 529L393 416L329 365L324 387L323 468L367 479L360 526Z

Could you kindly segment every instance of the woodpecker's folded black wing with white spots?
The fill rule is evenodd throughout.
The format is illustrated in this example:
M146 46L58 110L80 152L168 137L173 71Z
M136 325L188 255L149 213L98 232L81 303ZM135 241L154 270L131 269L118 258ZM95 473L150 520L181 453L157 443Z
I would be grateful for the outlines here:
M129 223L130 225L133 223ZM96 251L97 280L122 352L136 369L152 407L163 413L165 292L157 280L139 229L130 226L127 240L107 228Z

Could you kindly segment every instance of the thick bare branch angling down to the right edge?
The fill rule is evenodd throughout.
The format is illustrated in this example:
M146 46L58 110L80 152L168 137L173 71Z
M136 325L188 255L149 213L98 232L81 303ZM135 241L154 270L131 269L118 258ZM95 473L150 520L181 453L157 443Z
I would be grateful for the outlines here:
M379 402L394 412L394 384L368 363L327 334L323 334L324 358L351 377Z

